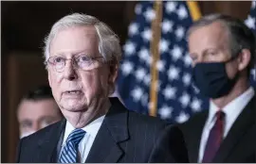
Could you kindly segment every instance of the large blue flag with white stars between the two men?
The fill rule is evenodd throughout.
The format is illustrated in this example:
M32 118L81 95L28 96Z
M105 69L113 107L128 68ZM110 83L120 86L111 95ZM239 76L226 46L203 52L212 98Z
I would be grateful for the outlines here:
M135 12L137 16L129 26L129 39L123 46L118 94L125 107L149 114L152 84L150 41L153 40L151 23L155 19L154 2L137 3ZM200 95L192 83L192 61L186 41L186 32L192 22L186 1L162 2L160 56L156 63L156 116L170 123L186 122L193 113L209 107L209 100Z

